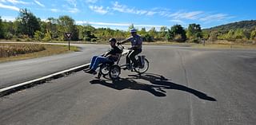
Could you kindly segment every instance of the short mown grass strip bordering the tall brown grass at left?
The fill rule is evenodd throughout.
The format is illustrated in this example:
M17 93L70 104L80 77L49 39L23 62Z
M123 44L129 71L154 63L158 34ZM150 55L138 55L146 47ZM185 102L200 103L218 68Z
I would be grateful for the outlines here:
M30 45L30 44L0 44L0 45ZM78 51L78 47L70 46L70 51L66 45L42 45L44 50L32 53L16 54L10 57L0 57L0 62L6 61L20 61L38 57L48 57L56 54L70 53ZM1 49L1 48L0 48Z

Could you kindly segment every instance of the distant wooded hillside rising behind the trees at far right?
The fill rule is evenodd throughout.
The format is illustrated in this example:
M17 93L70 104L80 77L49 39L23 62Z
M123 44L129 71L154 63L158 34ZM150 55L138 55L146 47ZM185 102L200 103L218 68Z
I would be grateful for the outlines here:
M218 26L212 27L210 29L204 29L204 30L228 31L230 29L248 29L251 31L255 28L256 28L256 20L251 20L251 21L237 21L237 22L226 24L226 25L218 25Z

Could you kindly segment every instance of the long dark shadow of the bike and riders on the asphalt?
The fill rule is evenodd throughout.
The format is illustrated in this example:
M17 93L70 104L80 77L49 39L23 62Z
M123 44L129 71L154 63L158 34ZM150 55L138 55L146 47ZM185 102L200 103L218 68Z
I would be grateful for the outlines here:
M135 79L142 79L150 81L151 84L143 84L135 81ZM170 82L164 76L160 76L157 74L146 73L143 75L130 75L128 78L120 78L119 80L91 80L90 84L102 84L109 88L114 88L117 90L122 89L133 89L133 90L142 90L146 92L150 92L154 96L162 97L166 96L165 89L176 89L183 92L189 92L194 96L198 96L199 99L209 100L209 101L217 101L213 97L207 96L203 92L199 92L198 90L188 88L181 84L175 84Z

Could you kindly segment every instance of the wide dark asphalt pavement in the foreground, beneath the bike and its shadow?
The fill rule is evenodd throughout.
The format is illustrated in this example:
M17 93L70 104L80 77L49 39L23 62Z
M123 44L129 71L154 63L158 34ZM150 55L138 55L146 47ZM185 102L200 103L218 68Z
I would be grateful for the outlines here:
M85 72L0 98L2 125L256 123L256 51L147 47L149 71Z

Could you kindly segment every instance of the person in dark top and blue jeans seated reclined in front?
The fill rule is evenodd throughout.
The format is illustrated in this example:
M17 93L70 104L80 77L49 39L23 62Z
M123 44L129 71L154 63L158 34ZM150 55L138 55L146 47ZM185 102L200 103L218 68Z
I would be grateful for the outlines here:
M110 38L109 40L111 49L106 52L102 56L94 56L90 61L90 67L85 71L90 74L97 74L96 69L98 68L98 64L102 63L114 63L118 61L118 57L122 54L122 50L116 46L116 39Z

